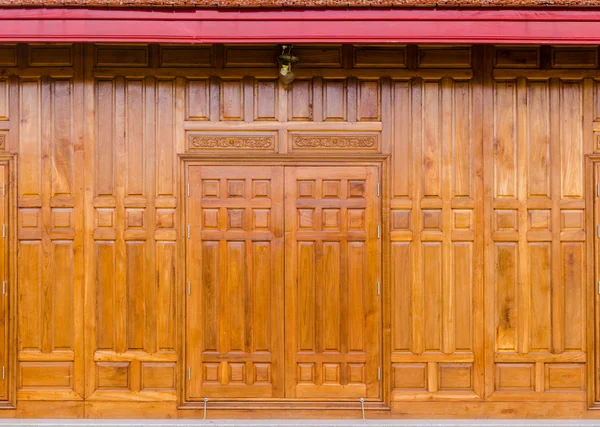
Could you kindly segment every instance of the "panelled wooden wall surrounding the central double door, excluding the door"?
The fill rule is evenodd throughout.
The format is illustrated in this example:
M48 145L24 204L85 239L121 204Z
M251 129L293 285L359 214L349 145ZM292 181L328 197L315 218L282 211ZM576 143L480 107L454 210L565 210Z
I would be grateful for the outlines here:
M184 153L389 156L391 410L373 417L594 416L584 164L600 151L598 49L297 46L290 86L277 81L278 53L0 46L1 149L18 170L17 409L0 416L47 405L78 417L201 414L176 409ZM322 416L358 415L345 408Z

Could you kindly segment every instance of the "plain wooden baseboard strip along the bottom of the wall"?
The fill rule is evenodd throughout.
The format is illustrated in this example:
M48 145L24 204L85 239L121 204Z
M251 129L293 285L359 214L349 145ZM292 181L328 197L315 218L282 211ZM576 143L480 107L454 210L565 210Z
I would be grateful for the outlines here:
M209 409L208 419L361 419L357 409ZM0 410L0 418L202 419L202 409L175 402L23 401ZM600 419L583 402L394 402L390 410L367 410L367 419Z

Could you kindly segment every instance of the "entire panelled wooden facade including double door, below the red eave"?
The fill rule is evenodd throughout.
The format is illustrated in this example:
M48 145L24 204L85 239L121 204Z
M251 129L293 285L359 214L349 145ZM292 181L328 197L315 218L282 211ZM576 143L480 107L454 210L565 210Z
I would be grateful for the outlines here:
M597 48L294 52L0 48L0 416L598 416Z

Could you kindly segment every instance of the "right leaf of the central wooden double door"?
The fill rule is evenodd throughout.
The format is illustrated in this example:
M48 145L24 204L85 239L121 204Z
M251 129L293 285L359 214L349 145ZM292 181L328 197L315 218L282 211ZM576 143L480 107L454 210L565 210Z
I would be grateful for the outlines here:
M379 397L377 176L286 168L286 397Z

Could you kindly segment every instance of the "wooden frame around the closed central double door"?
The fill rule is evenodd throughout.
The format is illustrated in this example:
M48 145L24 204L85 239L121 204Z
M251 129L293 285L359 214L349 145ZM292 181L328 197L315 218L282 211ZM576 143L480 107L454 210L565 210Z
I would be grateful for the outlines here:
M178 368L178 398L179 409L204 409L204 402L191 402L185 400L185 389L187 381L186 360L186 297L185 278L186 271L186 211L187 211L187 182L188 167L192 165L239 165L239 166L261 166L268 163L270 166L377 166L381 183L380 193L380 218L381 218L381 329L380 334L380 360L381 360L381 401L365 402L367 410L390 410L390 384L391 384L391 268L390 268L390 156L381 154L333 154L323 156L323 153L315 154L254 154L254 153L194 153L179 154L179 227L177 235L177 324L179 360ZM354 409L360 410L360 402L353 401L294 401L289 399L220 399L208 402L209 409L225 410L248 410L248 409Z

